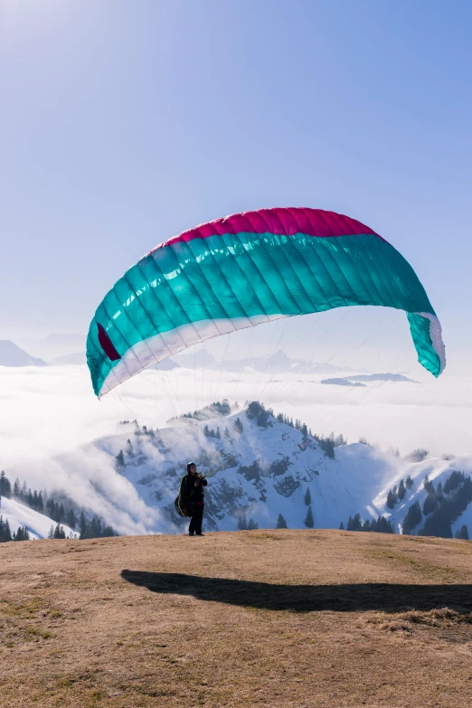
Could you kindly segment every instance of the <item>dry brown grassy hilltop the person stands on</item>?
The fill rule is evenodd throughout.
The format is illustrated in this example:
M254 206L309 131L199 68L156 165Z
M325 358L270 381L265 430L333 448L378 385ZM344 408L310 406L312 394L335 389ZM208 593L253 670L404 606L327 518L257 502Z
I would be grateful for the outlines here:
M250 531L0 544L0 706L468 708L472 543Z

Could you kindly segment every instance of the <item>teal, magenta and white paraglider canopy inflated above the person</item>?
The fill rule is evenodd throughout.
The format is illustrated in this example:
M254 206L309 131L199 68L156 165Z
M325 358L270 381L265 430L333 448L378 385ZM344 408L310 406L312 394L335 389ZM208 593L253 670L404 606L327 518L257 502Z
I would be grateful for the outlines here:
M109 290L87 339L93 389L102 396L214 336L355 305L404 310L419 362L434 376L443 371L439 319L382 236L320 209L232 214L161 243Z

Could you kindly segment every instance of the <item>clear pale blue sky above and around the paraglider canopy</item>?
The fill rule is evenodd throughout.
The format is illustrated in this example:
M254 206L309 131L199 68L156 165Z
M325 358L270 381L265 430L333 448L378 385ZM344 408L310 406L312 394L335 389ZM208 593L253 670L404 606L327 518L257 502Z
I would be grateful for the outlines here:
M472 347L472 3L4 0L0 336L226 213L354 216Z

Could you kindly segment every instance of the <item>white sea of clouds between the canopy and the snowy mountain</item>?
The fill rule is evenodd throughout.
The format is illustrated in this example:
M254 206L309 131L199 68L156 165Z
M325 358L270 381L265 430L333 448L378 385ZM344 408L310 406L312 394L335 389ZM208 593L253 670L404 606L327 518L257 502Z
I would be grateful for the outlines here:
M470 452L472 376L446 371L436 380L420 367L414 375L411 382L348 388L321 385L321 374L147 370L99 401L86 366L0 367L0 465L66 452L116 432L120 420L160 428L223 398L258 399L314 432L365 437L402 453L419 447L435 455Z

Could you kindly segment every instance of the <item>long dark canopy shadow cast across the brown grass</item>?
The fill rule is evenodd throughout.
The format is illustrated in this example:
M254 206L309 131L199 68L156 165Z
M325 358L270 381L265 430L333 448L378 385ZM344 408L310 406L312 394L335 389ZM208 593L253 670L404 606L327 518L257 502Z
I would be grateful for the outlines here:
M183 573L121 571L121 577L152 592L191 595L196 599L225 602L258 609L292 612L355 612L382 610L429 611L448 607L461 614L472 612L472 585L396 585L359 583L345 585L272 585L268 582L203 578Z

